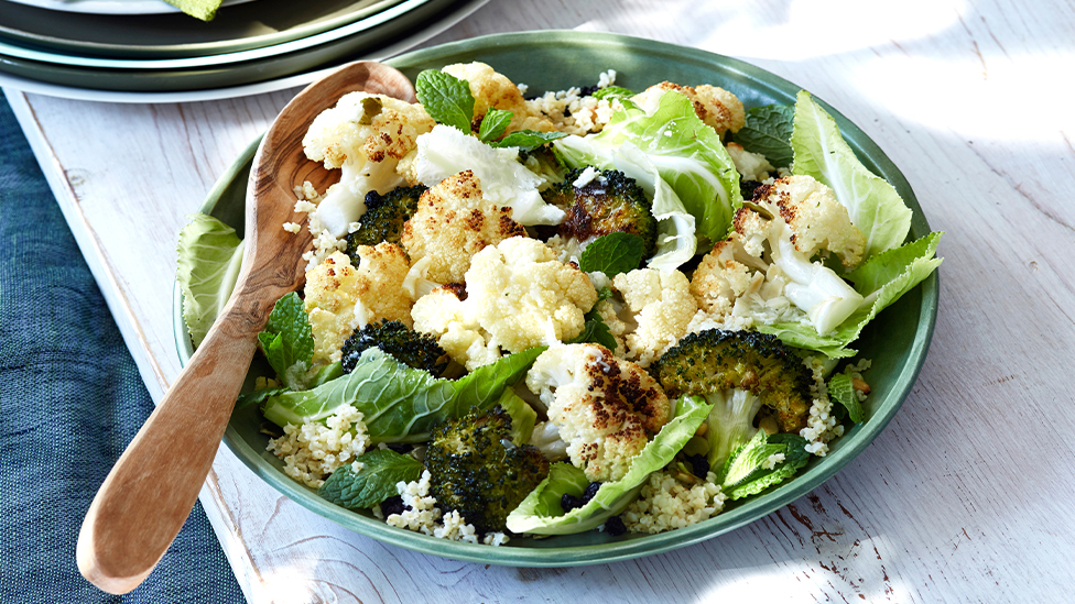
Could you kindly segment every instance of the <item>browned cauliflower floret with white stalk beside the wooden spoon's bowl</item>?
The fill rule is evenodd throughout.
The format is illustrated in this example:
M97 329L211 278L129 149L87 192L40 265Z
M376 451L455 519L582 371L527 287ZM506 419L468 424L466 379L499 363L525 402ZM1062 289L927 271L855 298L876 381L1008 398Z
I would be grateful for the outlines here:
M337 238L347 234L366 211L366 194L386 194L403 184L397 165L434 125L421 105L368 92L344 95L322 111L303 136L303 151L328 169L343 168L343 174L325 191L312 227Z

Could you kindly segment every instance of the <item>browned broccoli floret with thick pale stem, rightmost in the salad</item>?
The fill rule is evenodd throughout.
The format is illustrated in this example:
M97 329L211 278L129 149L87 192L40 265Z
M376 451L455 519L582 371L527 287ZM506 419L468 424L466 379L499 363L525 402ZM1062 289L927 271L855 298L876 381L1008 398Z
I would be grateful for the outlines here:
M813 374L774 336L719 329L691 333L653 363L650 372L669 397L702 396L713 404L705 438L708 462L714 469L721 469L721 475L731 471L729 465L743 463L737 453L748 443L757 450L773 446L773 452L785 457L805 443L791 435L806 427ZM789 437L764 439L760 435L762 440L758 440L759 427L765 433L779 431ZM758 461L753 460L756 464ZM796 459L786 472L794 473L797 465L801 463Z

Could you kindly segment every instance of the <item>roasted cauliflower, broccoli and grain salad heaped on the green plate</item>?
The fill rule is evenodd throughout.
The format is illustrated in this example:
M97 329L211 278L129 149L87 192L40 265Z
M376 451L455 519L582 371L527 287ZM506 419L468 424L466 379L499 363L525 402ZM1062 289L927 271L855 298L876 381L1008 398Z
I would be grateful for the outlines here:
M286 475L433 538L616 538L719 516L869 420L854 342L940 233L905 241L808 92L620 76L534 94L448 65L417 103L314 120L306 156L340 179L294 191L305 286L239 402Z

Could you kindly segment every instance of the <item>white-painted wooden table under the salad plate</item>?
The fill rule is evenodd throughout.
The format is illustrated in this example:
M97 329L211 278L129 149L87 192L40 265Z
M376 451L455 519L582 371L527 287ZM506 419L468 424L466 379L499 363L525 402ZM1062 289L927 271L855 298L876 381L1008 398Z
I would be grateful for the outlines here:
M947 232L929 359L871 447L731 534L550 570L383 546L221 449L202 502L248 600L1069 602L1075 11L1063 0L873 4L492 0L432 41L551 28L652 37L753 63L858 123ZM6 94L159 398L180 371L184 215L294 90L182 105Z

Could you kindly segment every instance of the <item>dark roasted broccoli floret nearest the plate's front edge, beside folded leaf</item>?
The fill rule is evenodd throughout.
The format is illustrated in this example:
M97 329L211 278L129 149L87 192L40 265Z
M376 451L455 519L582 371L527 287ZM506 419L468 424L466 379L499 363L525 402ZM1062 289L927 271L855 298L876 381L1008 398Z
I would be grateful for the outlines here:
M438 507L457 510L478 532L504 530L508 513L549 475L536 447L511 442L511 416L499 405L435 427L425 466Z

